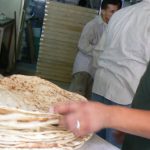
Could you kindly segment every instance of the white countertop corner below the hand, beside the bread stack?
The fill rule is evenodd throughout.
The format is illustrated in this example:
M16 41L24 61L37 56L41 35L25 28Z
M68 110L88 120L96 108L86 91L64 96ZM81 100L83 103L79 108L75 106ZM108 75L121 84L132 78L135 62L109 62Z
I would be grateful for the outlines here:
M104 139L93 135L79 150L119 150L119 148L108 143Z

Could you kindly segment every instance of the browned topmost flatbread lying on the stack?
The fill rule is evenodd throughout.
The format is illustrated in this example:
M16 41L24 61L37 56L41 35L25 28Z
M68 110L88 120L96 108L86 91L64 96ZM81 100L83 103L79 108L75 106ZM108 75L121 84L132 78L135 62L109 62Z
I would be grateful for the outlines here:
M0 105L40 112L48 112L50 105L60 102L86 100L36 76L13 75L0 79L0 91Z

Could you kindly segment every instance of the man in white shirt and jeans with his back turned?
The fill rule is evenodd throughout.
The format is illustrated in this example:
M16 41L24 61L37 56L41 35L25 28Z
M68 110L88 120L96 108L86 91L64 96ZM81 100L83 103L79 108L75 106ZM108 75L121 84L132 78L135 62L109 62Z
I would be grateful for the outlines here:
M95 49L100 55L92 99L130 105L150 60L150 0L116 12ZM110 129L106 139L114 143Z

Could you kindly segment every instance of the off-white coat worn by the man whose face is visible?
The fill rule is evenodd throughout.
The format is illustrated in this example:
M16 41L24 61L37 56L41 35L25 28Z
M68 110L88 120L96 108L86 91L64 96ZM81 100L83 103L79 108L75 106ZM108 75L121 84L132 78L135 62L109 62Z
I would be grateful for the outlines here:
M79 51L74 61L73 74L84 71L93 76L95 69L92 65L92 51L105 28L106 23L101 16L96 16L85 25L78 43Z

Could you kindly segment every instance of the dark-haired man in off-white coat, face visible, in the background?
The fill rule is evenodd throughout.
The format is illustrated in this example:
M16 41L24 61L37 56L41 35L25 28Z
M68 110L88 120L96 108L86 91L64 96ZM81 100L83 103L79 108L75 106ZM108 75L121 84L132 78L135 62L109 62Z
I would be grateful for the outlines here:
M103 0L101 14L88 22L81 34L79 51L73 66L73 79L69 90L91 98L95 68L92 65L93 49L99 42L110 17L122 6L121 0Z

